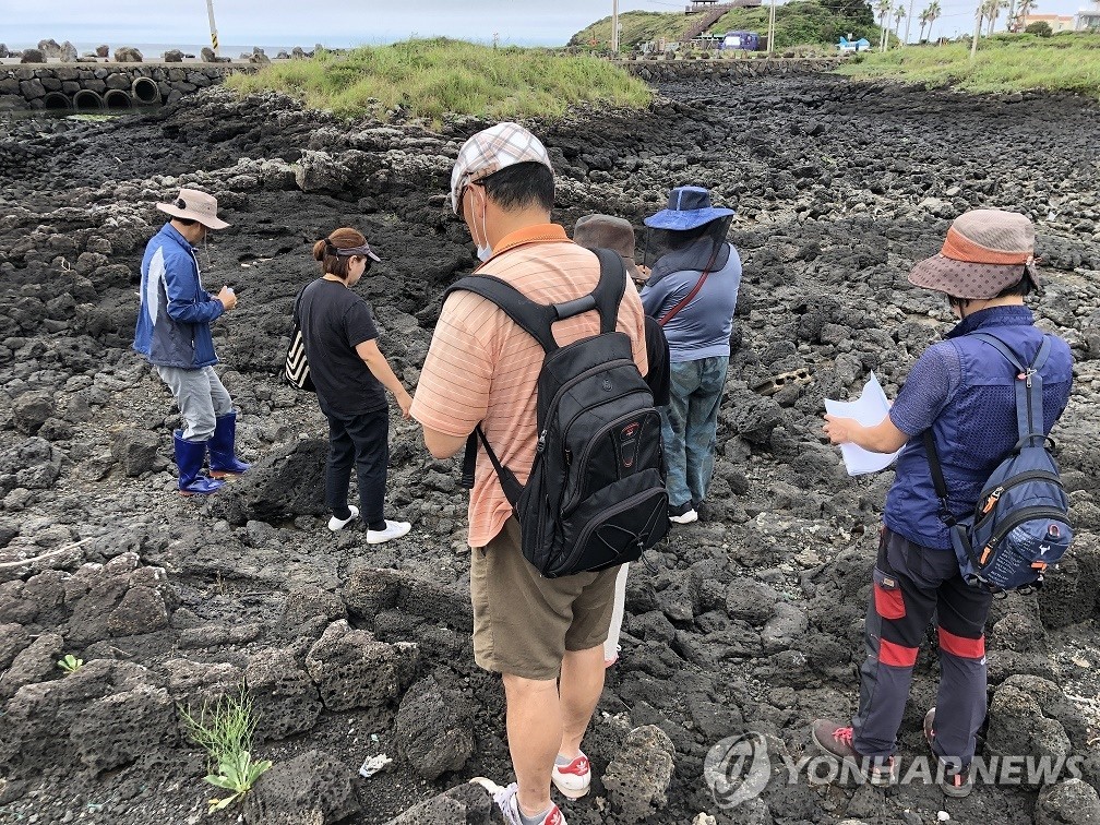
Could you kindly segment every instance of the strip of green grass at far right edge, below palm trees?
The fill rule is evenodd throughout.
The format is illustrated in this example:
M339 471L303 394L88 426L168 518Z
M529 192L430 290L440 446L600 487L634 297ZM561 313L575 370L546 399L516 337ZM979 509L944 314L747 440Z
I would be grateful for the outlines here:
M840 70L854 78L952 86L960 91L1041 89L1100 99L1100 35L994 35L980 41L972 62L969 40L944 46L906 46L860 55Z

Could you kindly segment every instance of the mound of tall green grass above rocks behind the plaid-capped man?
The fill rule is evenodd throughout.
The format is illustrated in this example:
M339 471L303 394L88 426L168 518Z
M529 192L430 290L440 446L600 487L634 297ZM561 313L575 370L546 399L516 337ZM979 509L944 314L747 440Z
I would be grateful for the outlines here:
M444 114L491 119L560 118L579 103L644 108L650 88L606 61L537 48L414 40L280 61L228 80L241 94L275 89L315 109L362 117L397 106L438 122Z

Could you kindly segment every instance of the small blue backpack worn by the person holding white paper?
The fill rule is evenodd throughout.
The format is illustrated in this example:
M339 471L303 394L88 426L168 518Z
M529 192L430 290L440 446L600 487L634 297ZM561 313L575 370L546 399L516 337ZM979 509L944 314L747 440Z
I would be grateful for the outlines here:
M994 593L1036 588L1043 574L1069 549L1069 499L1050 439L1043 432L1043 377L1050 352L1046 336L1030 366L999 338L971 333L994 346L1016 370L1016 422L1020 440L982 485L974 515L956 519L947 508L947 485L928 429L924 446L939 498L939 516L952 536L963 579Z

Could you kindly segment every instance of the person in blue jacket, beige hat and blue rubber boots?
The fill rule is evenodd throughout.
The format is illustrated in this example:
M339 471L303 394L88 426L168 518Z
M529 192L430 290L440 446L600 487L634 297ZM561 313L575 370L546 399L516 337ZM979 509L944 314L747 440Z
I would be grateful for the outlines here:
M237 307L237 296L229 286L216 296L202 288L195 246L208 231L229 224L218 217L218 200L196 189L180 189L173 202L156 208L172 220L145 248L133 345L156 369L179 407L179 492L207 495L227 475L249 469L237 458L237 414L213 370L218 355L210 332L213 321ZM212 477L202 474L208 450Z

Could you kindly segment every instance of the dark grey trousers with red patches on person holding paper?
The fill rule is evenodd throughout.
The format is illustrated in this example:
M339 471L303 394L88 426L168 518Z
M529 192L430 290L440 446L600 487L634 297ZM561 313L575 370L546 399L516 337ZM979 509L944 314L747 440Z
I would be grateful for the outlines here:
M941 673L934 749L970 765L975 735L986 719L985 627L992 595L963 581L952 550L914 544L888 528L873 576L853 745L872 758L898 750L917 648L935 615Z

